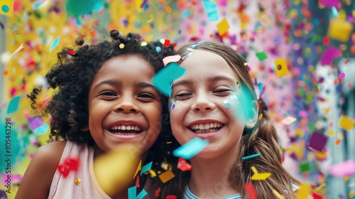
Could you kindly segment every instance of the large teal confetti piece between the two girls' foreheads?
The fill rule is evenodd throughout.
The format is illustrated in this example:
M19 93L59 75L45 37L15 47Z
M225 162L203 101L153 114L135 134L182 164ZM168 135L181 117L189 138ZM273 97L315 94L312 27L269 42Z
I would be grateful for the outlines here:
M181 68L178 63L169 63L165 68L156 73L152 79L153 85L163 95L171 95L171 84L174 80L184 75L186 69Z

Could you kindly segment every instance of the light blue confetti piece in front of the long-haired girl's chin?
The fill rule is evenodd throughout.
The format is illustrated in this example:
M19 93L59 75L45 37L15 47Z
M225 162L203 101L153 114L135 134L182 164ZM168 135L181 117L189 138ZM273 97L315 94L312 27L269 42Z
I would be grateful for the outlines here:
M188 141L186 144L180 146L178 149L175 149L173 151L173 155L189 160L193 156L196 156L198 153L200 153L200 151L202 151L202 149L204 149L207 144L208 139L200 139L195 137L194 139Z

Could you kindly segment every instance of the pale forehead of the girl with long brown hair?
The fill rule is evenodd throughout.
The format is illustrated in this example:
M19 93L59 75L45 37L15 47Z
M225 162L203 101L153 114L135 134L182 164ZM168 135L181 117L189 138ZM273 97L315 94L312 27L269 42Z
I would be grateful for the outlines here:
M231 69L224 58L205 50L194 50L192 55L187 56L180 66L186 69L182 78L224 75L238 80L234 70Z

